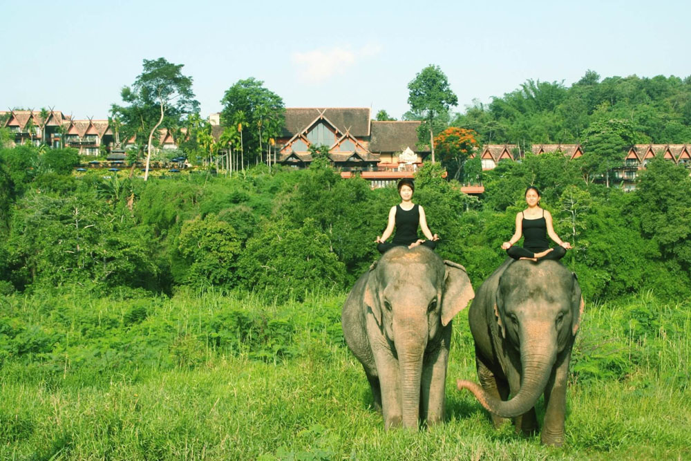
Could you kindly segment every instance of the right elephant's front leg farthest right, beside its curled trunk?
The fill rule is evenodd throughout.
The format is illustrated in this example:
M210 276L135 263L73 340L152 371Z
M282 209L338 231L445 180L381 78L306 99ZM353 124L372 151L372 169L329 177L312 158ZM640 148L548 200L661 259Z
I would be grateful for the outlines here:
M566 415L566 388L569 376L571 351L557 361L547 388L545 388L545 423L542 425L540 440L545 445L564 444L564 419Z

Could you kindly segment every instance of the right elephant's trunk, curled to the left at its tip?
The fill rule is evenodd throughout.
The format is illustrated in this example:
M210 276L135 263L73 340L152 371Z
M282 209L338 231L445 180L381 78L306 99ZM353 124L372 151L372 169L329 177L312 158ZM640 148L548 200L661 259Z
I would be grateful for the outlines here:
M547 335L550 336L550 335ZM541 344L535 344L535 343ZM549 346L551 342L552 345ZM549 351L545 353L536 351ZM477 400L491 413L501 417L516 417L535 406L540 394L545 391L551 371L556 361L556 341L531 341L521 346L522 377L520 389L510 400L503 401L490 395L474 382L458 379L458 390L468 389Z

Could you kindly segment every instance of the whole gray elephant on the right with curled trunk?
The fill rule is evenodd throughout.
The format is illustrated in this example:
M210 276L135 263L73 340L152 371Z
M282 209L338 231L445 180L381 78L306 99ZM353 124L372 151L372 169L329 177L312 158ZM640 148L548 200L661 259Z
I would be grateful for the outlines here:
M459 379L458 389L470 390L495 426L514 417L516 431L524 433L538 430L534 407L545 393L540 438L562 445L569 359L582 314L580 286L567 267L507 258L468 311L482 387Z

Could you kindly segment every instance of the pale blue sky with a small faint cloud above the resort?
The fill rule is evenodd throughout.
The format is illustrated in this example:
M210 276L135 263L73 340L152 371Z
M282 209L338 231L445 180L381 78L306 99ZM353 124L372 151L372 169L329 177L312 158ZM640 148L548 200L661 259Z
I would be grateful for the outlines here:
M691 75L689 1L0 0L0 108L105 118L142 59L184 64L202 115L256 77L287 107L372 107L400 117L407 84L437 64L458 96L527 79Z

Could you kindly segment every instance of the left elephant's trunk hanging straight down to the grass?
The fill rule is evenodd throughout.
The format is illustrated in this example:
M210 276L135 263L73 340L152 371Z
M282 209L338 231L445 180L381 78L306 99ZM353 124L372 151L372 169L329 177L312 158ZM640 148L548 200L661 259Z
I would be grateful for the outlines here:
M401 373L401 413L403 426L417 431L420 412L422 361L427 346L427 331L420 330L419 321L406 322L396 335L396 350ZM422 325L426 325L422 321Z

